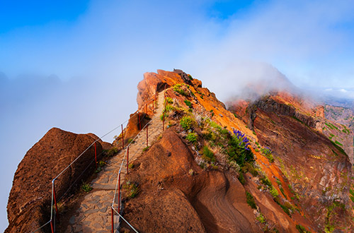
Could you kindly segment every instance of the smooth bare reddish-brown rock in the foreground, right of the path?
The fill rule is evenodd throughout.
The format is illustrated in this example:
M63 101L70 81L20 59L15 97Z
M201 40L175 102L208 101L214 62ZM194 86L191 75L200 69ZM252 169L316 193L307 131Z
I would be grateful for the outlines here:
M173 129L134 165L129 181L142 193L125 203L125 218L139 232L263 232L239 180L200 168Z

